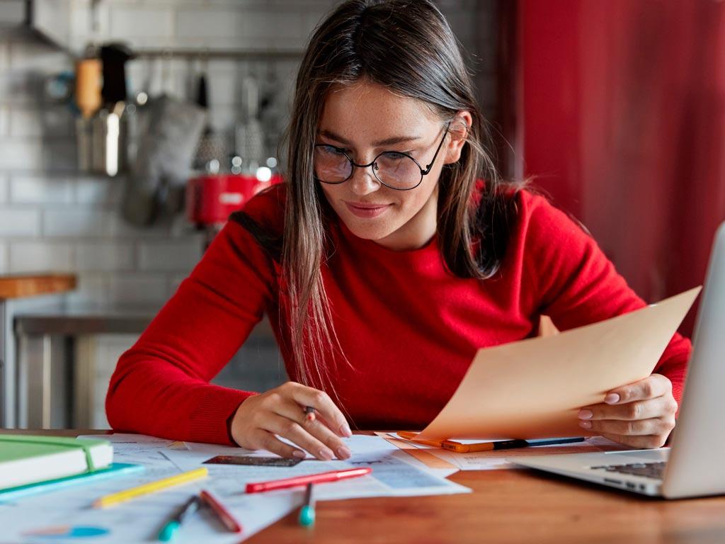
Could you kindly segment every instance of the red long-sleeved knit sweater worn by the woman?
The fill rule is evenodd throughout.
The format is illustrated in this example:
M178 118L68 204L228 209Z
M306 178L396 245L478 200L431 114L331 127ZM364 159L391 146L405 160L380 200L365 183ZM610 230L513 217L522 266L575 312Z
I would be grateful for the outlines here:
M281 232L284 186L245 212ZM501 276L460 279L444 268L437 235L418 250L392 251L330 226L336 245L323 281L352 368L326 360L353 428L426 426L450 399L479 347L537 334L546 314L561 329L642 308L594 239L543 197L520 194ZM276 260L228 221L111 378L106 411L114 429L174 440L228 443L226 421L254 392L210 384L266 313L286 361ZM284 323L282 322L284 321ZM655 372L679 402L691 345L675 334ZM336 398L336 397L333 397Z

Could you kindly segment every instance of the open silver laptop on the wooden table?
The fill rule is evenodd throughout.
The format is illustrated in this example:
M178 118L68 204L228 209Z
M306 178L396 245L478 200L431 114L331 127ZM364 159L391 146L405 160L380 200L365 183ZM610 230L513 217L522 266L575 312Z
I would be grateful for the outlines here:
M670 448L511 458L531 469L664 498L725 494L725 223L713 242Z

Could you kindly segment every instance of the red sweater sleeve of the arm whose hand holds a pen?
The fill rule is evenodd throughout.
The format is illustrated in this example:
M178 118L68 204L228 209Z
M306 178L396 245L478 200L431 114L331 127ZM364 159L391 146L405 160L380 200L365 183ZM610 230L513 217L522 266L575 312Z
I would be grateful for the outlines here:
M210 384L273 299L274 268L228 221L138 341L118 360L106 397L117 431L230 444L226 421L253 392Z

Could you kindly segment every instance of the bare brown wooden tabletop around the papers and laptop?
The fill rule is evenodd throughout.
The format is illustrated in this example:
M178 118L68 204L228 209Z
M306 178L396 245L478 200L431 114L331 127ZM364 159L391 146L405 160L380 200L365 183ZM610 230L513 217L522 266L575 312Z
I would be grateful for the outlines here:
M450 479L473 493L322 502L314 527L299 527L294 512L245 542L725 543L725 497L663 500L528 469L460 471Z

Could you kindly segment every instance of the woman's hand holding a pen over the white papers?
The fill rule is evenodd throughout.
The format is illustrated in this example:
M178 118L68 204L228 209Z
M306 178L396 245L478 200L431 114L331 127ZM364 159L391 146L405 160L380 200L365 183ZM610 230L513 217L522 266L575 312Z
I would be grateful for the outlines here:
M306 406L315 408L315 418L307 418ZM305 458L304 451L282 442L276 434L323 461L350 456L340 437L352 432L339 408L326 392L297 382L247 397L234 413L231 435L242 448Z

